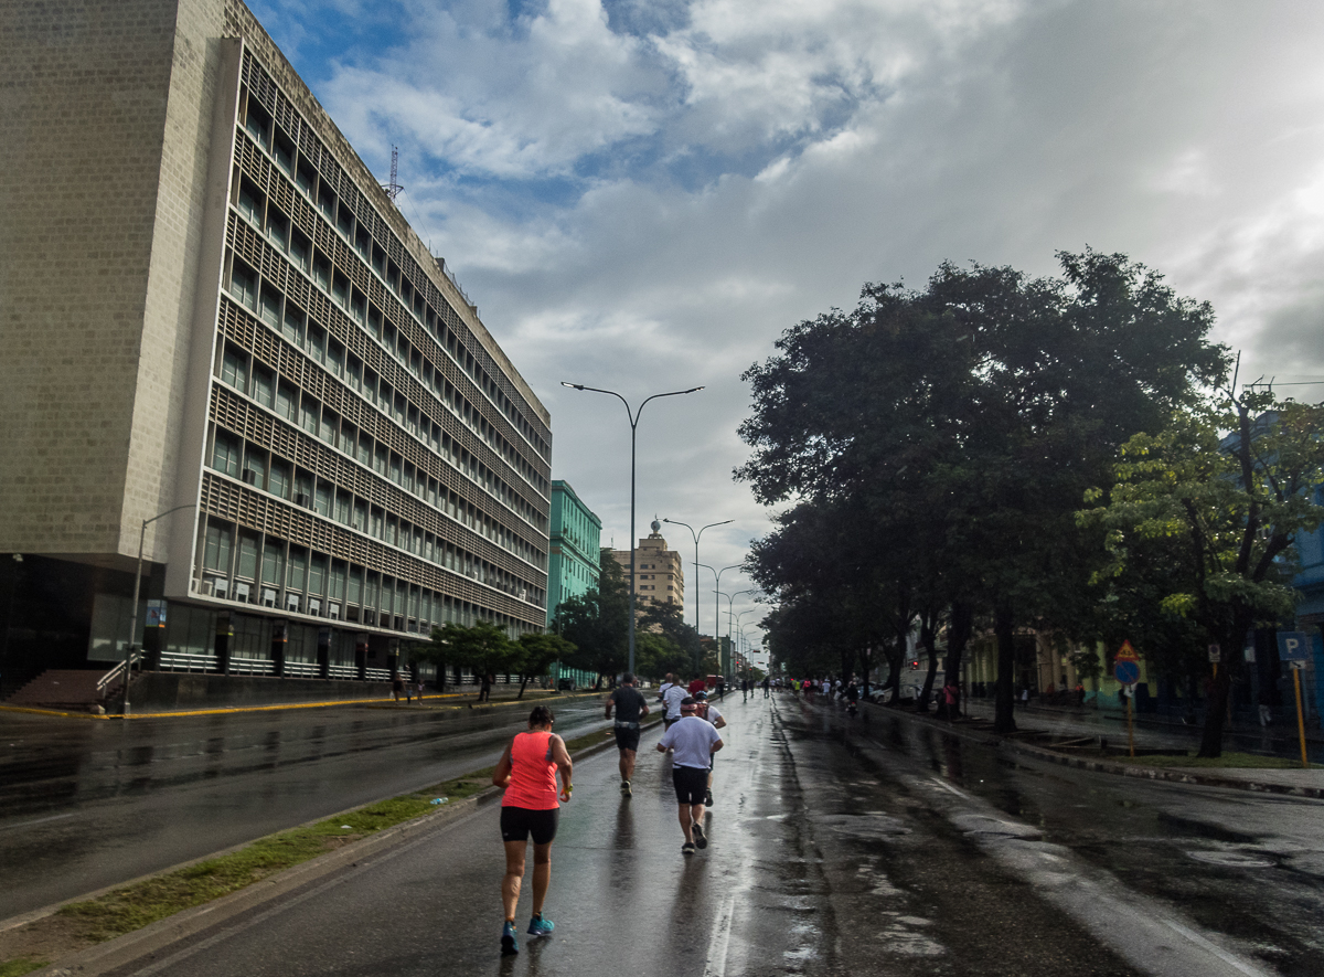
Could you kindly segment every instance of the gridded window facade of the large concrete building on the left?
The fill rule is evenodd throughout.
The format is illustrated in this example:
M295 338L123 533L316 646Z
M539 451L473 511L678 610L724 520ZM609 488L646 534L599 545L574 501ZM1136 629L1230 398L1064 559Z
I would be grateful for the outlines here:
M193 592L540 629L547 425L248 49L233 140Z

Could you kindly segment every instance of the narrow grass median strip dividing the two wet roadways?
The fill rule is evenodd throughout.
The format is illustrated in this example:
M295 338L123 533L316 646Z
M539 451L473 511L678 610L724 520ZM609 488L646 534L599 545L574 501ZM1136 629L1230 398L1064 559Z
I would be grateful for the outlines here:
M612 729L602 729L568 740L565 747L577 753L612 737ZM489 789L491 774L491 767L473 770L425 790L260 838L237 851L122 886L95 899L69 903L50 916L0 932L0 977L21 977L69 953L237 892L348 842L445 810ZM442 797L446 805L433 804Z

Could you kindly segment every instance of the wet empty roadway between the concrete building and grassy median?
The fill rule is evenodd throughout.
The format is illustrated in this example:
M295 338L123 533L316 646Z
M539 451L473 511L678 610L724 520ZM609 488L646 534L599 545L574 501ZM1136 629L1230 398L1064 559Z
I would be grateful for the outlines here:
M553 707L567 739L605 725ZM489 767L527 708L0 714L0 920Z

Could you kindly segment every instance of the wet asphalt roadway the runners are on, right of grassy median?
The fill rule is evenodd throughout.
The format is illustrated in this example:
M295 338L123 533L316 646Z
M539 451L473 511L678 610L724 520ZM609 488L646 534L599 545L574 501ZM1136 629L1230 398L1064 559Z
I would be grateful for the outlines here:
M632 800L614 752L581 763L557 929L515 958L487 805L122 973L1324 973L1321 802L1013 763L883 710L724 711L711 846L679 854L665 757Z

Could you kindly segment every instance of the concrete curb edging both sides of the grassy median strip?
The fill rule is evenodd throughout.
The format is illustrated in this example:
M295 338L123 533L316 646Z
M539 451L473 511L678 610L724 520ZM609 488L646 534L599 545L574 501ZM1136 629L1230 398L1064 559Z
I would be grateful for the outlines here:
M658 723L661 723L661 718L651 723L643 723L642 728L649 729ZM581 760L587 760L597 753L604 753L614 747L616 741L613 739L606 739L596 745L576 751L571 756L571 760L577 764ZM410 821L402 821L392 827L385 827L368 838L360 838L359 841L351 842L344 847L336 849L335 851L318 855L307 862L286 868L283 872L262 879L261 882L256 882L252 886L246 886L237 892L230 892L229 895L221 896L211 903L204 903L203 906L195 906L191 909L181 909L173 916L156 920L142 929L135 929L134 932L124 933L114 940L99 943L95 947L89 947L87 949L79 951L61 960L56 960L40 970L32 972L32 977L73 977L73 974L78 974L78 977L98 977L99 974L110 973L111 970L127 966L135 960L156 953L166 947L189 936L195 936L204 929L221 925L244 912L262 906L263 903L279 899L297 888L342 870L346 866L355 866L367 858L383 854L384 851L388 851L397 845L402 845L404 842L410 841L412 838L426 831L440 831L451 822L458 821L462 815L471 814L478 808L491 804L499 796L500 792L496 788L486 788L471 797L466 797L462 801L457 801L455 804L444 808L440 812L428 812L426 814L421 814ZM323 821L331 821L343 814L371 806L371 804L376 804L376 801L359 805L344 812L338 812L336 814L331 814L324 818L316 818L315 821L310 821L307 823L315 825ZM283 834L283 831L279 831L278 834ZM177 871L185 866L205 862L209 858L217 858L218 855L245 849L253 843L254 842L252 841L244 842L242 845L236 845L225 849L224 851L217 851L191 862L172 866L159 872L152 872L151 875L144 875L134 882L168 875L169 872ZM86 902L87 899L94 899L99 895L113 892L117 888L123 888L130 884L134 883L126 882L118 886L110 886L107 888L98 890L97 892L78 896L77 899L68 899L56 906L46 907L44 909L34 909L33 912L24 913L23 916L15 916L13 919L0 921L0 932L24 925L26 923L34 923L38 919L54 913L62 906Z

